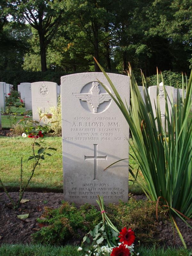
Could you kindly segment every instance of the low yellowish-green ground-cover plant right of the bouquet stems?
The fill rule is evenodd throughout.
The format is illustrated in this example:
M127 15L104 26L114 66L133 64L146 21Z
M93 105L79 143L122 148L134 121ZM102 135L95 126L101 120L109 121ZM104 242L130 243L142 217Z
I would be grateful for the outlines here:
M159 209L158 209L159 210ZM119 205L109 204L107 213L114 225L121 230L123 227L134 230L136 240L141 244L158 243L156 234L156 204L146 200L135 200L133 197L127 203L119 201ZM161 218L165 212L161 212Z

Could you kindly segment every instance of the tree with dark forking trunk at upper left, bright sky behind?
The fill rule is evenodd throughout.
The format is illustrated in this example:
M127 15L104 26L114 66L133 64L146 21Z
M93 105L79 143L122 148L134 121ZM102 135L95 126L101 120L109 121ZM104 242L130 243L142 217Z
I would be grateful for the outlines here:
M37 30L40 45L41 71L47 70L46 48L55 35L61 20L61 10L54 8L54 0L11 1L12 14Z

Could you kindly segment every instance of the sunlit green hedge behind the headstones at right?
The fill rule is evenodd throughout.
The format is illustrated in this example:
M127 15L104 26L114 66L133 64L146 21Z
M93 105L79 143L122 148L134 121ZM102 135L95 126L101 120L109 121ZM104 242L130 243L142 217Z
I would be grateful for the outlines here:
M162 75L163 75L163 80L165 85L171 85L174 88L177 88L177 87L182 88L182 76L180 73L172 72L172 71L163 71ZM160 76L159 83L162 82L161 80L162 79ZM137 81L137 78L136 78L136 81ZM146 83L148 87L156 85L157 75L147 77Z

